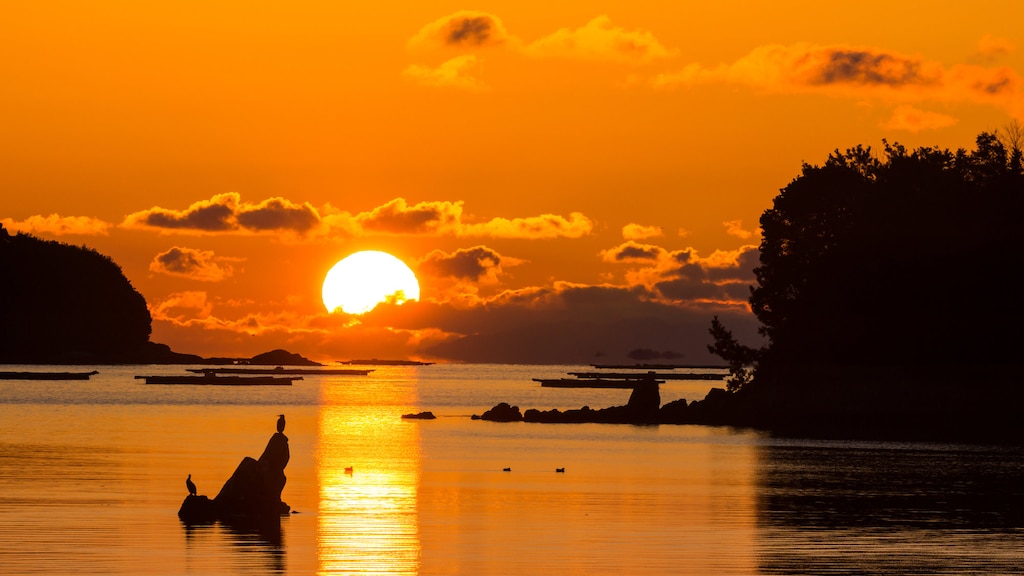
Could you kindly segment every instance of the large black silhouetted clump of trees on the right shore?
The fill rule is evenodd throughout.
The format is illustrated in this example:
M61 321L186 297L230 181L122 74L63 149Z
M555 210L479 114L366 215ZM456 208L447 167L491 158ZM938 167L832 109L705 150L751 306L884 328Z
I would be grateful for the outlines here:
M753 381L735 387L787 389L785 402L816 408L849 404L864 382L904 406L942 380L1016 390L1019 378L970 376L1015 370L1024 349L1016 142L982 133L974 151L955 153L885 142L881 158L857 147L805 164L761 217L750 303L768 342ZM742 356L717 319L712 334L712 352ZM953 410L951 398L939 409Z

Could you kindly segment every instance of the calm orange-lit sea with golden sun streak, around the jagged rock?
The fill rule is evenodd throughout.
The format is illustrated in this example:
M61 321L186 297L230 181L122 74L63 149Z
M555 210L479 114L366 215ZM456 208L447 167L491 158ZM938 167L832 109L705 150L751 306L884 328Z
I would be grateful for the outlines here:
M377 366L290 386L0 380L2 574L1021 574L1024 448L475 420L626 404L589 366ZM669 380L662 402L703 398ZM403 414L432 412L432 420ZM285 414L280 525L189 526ZM557 471L564 470L564 471Z

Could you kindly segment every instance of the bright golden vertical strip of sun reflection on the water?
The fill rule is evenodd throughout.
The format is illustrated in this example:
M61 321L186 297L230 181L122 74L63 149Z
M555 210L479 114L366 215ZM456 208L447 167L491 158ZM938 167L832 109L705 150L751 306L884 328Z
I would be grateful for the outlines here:
M325 393L316 457L321 573L418 572L419 433L397 417L411 394L379 382Z

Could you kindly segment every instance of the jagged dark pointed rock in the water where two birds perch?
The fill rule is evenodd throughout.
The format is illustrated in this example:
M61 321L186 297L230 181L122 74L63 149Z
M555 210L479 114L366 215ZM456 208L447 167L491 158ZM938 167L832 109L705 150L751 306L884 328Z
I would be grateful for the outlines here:
M290 458L288 437L274 434L259 460L243 458L214 499L186 496L178 518L187 523L203 523L275 519L289 513L291 508L281 500L281 493L288 480L285 466Z

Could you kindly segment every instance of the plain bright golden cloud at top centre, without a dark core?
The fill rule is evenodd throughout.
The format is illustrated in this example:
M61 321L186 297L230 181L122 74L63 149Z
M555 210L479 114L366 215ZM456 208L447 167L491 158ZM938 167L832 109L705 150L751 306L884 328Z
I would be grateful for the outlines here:
M629 31L599 15L581 28L562 28L522 48L524 54L537 58L571 58L647 64L672 57L675 50L662 45L650 32Z

